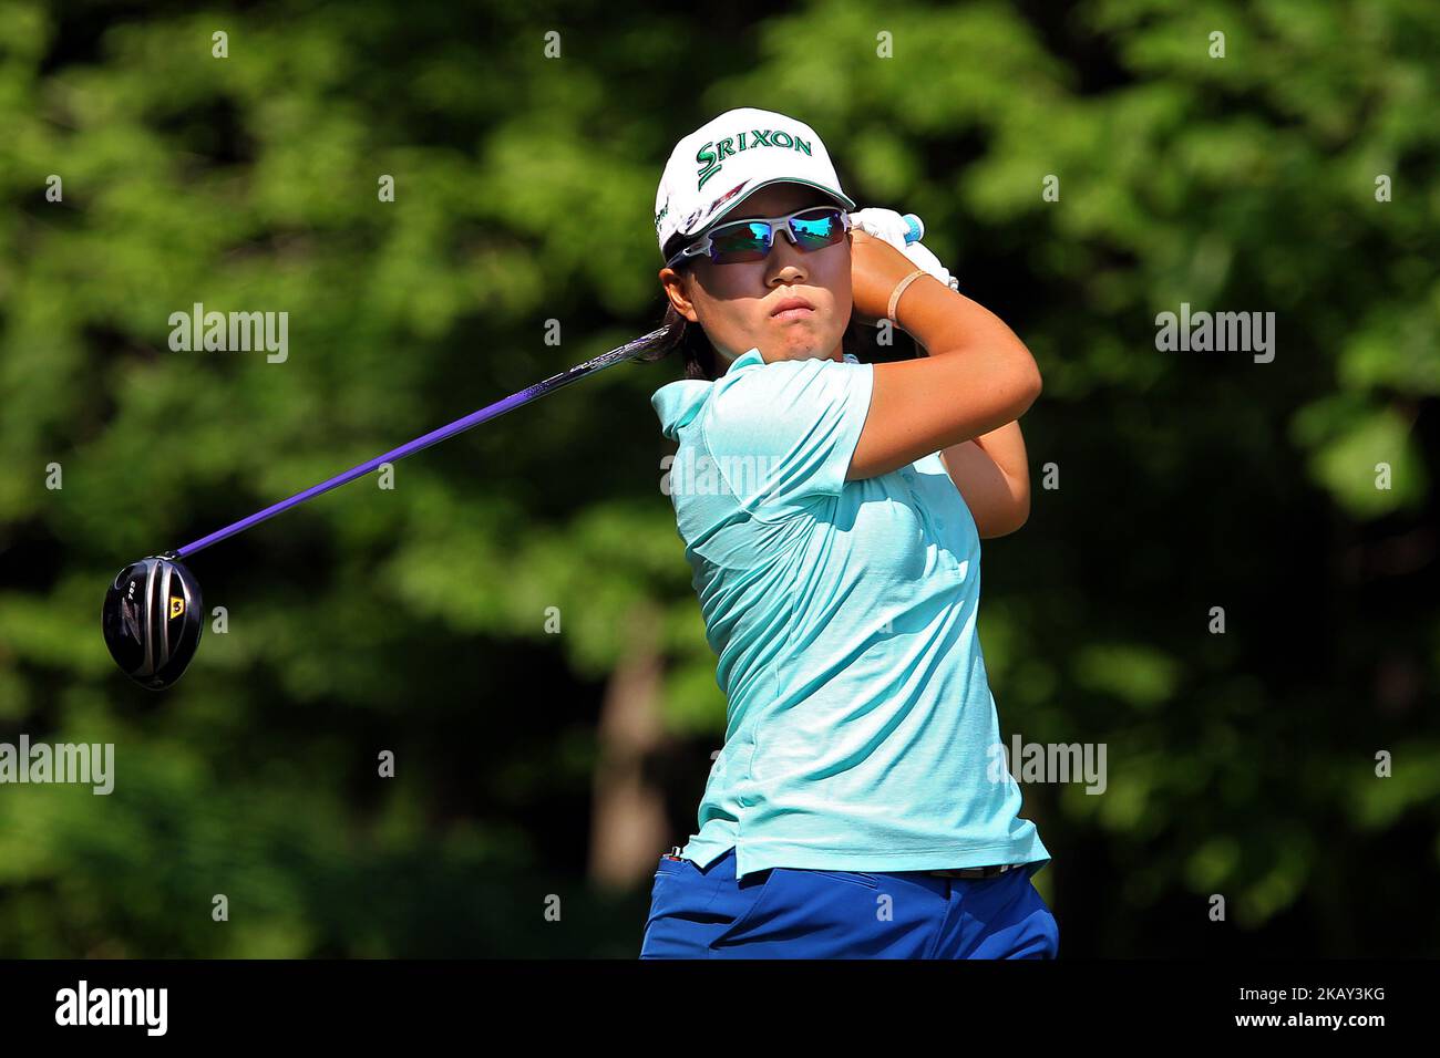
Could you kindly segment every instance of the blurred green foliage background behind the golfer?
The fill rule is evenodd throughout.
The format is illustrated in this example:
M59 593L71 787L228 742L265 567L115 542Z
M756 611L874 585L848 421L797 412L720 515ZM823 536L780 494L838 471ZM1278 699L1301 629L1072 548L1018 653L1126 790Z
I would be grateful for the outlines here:
M1063 954L1440 953L1437 55L1424 0L0 0L0 740L118 757L108 797L0 787L0 954L635 954L648 892L585 862L636 622L677 842L724 708L658 489L677 366L207 551L230 632L164 695L98 613L127 561L652 328L660 170L736 105L922 214L1041 364L1060 488L986 541L981 635L1007 737L1107 746L1103 796L1025 787ZM170 351L193 302L288 311L289 360ZM1156 353L1181 302L1276 312L1274 363Z

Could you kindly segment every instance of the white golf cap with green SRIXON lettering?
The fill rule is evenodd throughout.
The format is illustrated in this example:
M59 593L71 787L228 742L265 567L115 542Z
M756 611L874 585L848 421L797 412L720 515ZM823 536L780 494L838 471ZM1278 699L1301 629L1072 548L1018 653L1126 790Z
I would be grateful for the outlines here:
M677 232L696 235L768 184L809 184L847 210L855 203L815 130L775 111L739 107L711 118L670 153L655 191L655 235L664 256Z

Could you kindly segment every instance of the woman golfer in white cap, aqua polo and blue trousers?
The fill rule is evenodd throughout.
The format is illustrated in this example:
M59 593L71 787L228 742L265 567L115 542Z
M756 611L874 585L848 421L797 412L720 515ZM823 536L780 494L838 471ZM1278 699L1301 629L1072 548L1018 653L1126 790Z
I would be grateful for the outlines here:
M652 403L729 710L644 959L1058 947L976 638L979 540L1028 514L1040 374L854 207L812 128L753 108L681 140L660 184L687 377ZM887 318L927 356L858 361Z

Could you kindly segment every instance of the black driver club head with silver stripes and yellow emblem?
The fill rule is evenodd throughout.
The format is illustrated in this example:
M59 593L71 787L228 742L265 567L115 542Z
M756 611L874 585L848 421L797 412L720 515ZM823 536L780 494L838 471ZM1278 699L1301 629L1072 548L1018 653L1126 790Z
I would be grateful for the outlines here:
M168 554L122 569L101 610L109 656L151 691L163 691L184 675L200 645L203 619L199 582Z

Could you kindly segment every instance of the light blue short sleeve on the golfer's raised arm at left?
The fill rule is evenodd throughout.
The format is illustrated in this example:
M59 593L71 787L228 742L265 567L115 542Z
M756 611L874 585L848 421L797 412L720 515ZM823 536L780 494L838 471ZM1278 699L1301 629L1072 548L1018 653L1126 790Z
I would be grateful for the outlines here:
M740 507L780 511L835 497L870 413L874 366L780 360L726 379L706 446Z

